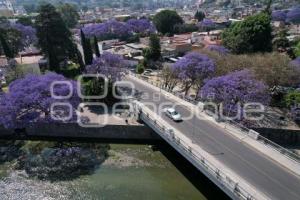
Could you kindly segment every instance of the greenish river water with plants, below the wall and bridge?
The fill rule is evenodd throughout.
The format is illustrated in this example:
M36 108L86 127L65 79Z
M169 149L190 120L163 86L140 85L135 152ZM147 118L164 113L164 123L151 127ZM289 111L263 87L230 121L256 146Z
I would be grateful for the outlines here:
M0 199L227 197L167 144L0 141Z

